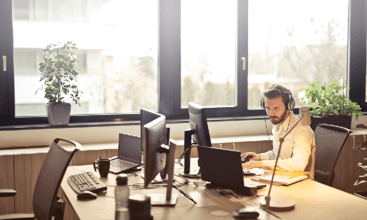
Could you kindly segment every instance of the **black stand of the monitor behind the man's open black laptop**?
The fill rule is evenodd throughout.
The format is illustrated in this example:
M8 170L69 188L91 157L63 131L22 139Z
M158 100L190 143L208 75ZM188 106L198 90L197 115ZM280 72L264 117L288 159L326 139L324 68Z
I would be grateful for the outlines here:
M191 142L191 136L195 133L192 129L187 129L184 132L184 152L185 152L185 158L184 158L184 172L181 173L182 176L187 178L201 178L201 172L200 172L200 164L198 159L198 166L199 166L199 172L197 174L190 173L190 157L191 157L191 146L196 143Z

